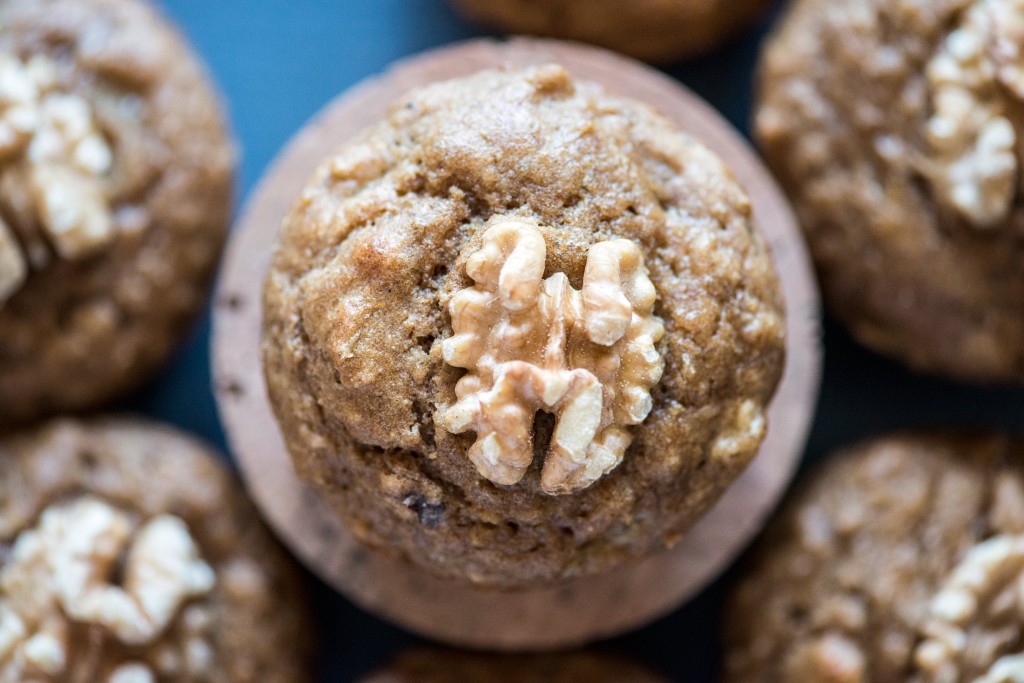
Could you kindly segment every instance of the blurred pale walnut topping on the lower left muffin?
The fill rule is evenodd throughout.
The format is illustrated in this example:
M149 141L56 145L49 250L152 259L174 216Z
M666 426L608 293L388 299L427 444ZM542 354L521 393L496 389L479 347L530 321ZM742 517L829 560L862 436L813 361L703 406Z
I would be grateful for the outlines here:
M115 586L108 581L122 557L123 586ZM126 645L152 644L182 604L213 585L213 569L177 517L136 525L92 497L47 508L0 568L0 681L61 678L71 622L102 627ZM155 676L125 663L109 680Z

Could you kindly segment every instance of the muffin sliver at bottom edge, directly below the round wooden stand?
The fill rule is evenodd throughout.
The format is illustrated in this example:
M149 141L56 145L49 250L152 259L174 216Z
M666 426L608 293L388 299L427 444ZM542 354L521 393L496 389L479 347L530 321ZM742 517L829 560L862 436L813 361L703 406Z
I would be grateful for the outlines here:
M595 652L559 654L483 654L458 650L418 649L360 683L665 683L631 661Z

